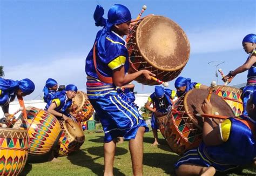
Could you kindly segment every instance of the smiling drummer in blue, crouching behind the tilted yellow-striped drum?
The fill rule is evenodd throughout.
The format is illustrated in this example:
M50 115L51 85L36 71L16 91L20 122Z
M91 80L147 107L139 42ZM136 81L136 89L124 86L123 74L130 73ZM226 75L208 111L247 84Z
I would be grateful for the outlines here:
M72 118L69 114L69 107L72 104L72 98L77 94L77 86L69 84L66 91L56 93L51 100L50 105L45 106L45 110L52 113L58 120L68 120Z

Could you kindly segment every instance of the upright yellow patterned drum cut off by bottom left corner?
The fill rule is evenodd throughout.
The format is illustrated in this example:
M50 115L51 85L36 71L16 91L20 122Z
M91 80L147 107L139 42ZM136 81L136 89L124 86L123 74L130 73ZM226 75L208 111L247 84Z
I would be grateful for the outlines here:
M29 134L19 128L0 127L0 175L18 175L28 159Z

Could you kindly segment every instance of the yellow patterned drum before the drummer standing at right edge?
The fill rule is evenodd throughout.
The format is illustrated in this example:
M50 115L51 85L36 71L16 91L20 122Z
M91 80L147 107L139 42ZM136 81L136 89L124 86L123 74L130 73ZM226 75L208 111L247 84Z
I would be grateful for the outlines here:
M214 93L222 97L230 105L235 116L240 116L244 107L242 106L242 90L235 87L220 86L214 88Z

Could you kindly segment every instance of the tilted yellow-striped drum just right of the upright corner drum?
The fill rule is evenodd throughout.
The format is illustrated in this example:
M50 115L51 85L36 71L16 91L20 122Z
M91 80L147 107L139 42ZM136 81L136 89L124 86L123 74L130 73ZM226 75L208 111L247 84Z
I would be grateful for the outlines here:
M60 125L51 113L36 107L26 107L28 114L29 154L42 155L48 153L59 139ZM22 115L21 115L22 116Z

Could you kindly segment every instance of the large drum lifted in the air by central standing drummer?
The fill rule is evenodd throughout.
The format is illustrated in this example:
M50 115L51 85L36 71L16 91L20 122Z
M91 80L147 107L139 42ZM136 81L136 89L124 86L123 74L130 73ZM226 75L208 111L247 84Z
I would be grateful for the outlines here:
M129 73L146 69L156 78L169 82L185 67L190 56L190 43L185 32L171 19L163 16L145 17L128 36ZM137 82L156 85L153 80L138 77Z

